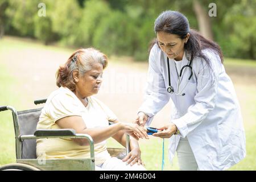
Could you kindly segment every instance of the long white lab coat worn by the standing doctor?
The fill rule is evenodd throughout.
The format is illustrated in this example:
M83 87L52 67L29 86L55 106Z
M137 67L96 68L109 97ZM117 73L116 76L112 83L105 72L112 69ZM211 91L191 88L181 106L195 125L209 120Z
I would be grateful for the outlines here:
M185 96L167 92L167 56L155 44L149 56L146 96L139 111L146 113L147 125L171 98L171 121L180 131L172 135L169 159L175 155L180 137L187 137L200 170L224 170L245 158L245 131L240 105L229 76L226 75L220 57L205 49L210 65L200 57L192 61L193 76L184 89ZM182 65L189 63L186 53ZM175 62L170 59L171 85L177 89ZM184 88L190 75L185 68L180 88Z

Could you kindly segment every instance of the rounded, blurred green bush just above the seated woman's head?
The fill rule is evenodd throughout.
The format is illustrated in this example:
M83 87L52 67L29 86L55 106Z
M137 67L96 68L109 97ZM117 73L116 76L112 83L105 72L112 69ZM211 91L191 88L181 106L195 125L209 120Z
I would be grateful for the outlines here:
M112 11L98 24L93 36L93 46L108 54L132 55L136 28L131 19L120 11Z

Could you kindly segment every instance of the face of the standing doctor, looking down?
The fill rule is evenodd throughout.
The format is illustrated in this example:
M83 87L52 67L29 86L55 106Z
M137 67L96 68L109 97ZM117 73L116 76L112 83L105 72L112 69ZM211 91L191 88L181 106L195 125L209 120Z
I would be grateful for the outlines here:
M164 31L156 33L158 45L169 59L182 60L184 54L184 44L188 38L181 39L178 35ZM189 37L189 34L188 34Z

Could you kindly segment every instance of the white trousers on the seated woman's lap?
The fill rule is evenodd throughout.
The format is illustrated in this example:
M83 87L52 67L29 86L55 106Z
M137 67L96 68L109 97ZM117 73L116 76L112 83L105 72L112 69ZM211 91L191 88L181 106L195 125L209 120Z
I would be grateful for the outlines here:
M103 164L100 166L95 166L96 171L146 171L146 169L142 165L138 165L137 163L133 166L130 164L126 165L126 162L122 162L122 160L117 158L108 158L105 160Z

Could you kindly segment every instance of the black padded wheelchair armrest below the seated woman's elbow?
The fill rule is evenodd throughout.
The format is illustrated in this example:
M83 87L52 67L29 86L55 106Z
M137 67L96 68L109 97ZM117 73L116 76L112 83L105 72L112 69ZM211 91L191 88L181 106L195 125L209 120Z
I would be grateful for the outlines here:
M45 137L45 136L76 136L76 131L74 129L39 129L36 130L34 135L36 137Z

